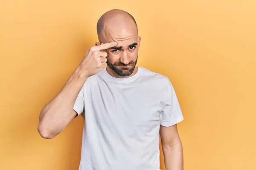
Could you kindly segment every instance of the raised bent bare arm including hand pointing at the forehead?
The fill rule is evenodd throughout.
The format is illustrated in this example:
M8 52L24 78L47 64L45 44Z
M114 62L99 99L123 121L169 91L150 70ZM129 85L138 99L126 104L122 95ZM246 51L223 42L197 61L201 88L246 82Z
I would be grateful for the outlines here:
M102 51L117 42L96 45L86 52L78 68L73 72L61 91L42 109L38 132L43 138L52 139L78 115L73 110L76 99L88 77L107 66L107 53Z

